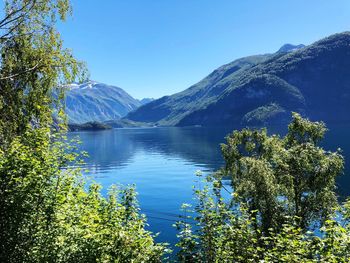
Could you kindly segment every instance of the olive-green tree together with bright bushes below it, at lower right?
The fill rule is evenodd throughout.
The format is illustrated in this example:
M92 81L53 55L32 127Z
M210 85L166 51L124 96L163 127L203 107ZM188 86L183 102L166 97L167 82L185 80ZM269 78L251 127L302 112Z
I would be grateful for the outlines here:
M196 206L176 224L179 261L348 262L350 200L339 206L334 193L343 158L318 146L325 131L294 114L283 138L228 136L225 168L195 189Z

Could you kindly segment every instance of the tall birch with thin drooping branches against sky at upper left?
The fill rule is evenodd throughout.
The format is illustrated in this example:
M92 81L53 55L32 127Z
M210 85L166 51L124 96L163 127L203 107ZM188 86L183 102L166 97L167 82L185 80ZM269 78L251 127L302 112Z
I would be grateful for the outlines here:
M70 13L69 0L6 0L0 21L0 145L30 126L51 125L64 87L84 77L83 63L63 48L55 24ZM56 104L56 109L53 106Z

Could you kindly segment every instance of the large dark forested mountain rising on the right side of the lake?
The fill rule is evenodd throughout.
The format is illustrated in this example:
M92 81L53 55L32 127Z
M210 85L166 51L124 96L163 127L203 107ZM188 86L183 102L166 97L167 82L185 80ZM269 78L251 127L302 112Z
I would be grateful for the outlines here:
M310 46L241 58L190 88L130 112L153 125L266 125L291 111L325 121L350 120L350 33Z

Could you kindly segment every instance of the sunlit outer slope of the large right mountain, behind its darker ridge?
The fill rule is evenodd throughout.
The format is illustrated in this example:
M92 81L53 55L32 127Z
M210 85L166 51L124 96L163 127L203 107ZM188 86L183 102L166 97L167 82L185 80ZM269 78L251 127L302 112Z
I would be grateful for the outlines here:
M230 85L231 78L239 76L244 70L269 57L270 55L251 56L224 65L190 88L141 106L138 110L131 112L127 118L159 125L176 125L189 112L216 101Z

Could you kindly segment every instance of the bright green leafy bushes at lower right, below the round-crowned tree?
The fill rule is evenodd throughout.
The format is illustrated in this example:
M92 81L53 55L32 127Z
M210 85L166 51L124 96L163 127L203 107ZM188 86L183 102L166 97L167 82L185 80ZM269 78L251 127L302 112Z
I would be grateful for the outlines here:
M342 219L325 221L318 234L305 232L298 218L287 217L279 231L264 236L244 204L219 197L217 182L204 183L204 189L196 190L195 209L186 206L186 219L177 223L179 262L348 262L350 201L338 211Z

